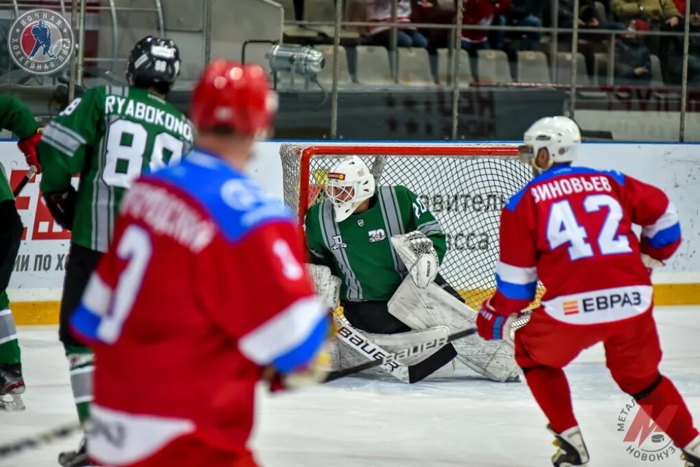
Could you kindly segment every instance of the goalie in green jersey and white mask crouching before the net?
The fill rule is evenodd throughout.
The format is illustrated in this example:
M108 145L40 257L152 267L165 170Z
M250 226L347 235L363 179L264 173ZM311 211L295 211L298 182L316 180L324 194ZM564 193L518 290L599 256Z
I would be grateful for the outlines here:
M333 310L338 344L334 370L381 358L475 326L476 312L438 274L447 252L440 223L403 186L375 186L357 156L328 174L326 197L304 219L309 272ZM455 358L498 382L519 377L509 340L477 335L387 363L372 374L402 382L454 372Z

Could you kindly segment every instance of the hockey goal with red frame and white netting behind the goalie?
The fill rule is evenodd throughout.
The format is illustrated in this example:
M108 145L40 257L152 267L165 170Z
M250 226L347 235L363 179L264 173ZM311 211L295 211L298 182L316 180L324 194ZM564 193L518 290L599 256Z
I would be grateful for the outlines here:
M342 158L358 155L377 185L402 185L440 221L447 255L440 274L478 307L496 287L500 210L532 178L514 144L283 144L286 204L300 219L325 197L323 184Z

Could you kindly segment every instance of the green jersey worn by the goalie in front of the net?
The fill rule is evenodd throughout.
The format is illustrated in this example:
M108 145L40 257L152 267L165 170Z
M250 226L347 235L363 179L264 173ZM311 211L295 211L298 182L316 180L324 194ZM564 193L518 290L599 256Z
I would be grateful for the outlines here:
M404 186L380 186L370 209L335 221L330 200L314 204L304 219L312 262L342 279L341 300L388 300L407 275L389 239L414 230L433 241L437 257L447 251L440 223L422 200Z

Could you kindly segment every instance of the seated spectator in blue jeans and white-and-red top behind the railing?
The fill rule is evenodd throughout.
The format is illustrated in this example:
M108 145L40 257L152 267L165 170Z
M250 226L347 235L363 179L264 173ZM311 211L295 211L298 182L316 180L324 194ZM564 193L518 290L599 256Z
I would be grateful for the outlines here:
M417 2L419 8L433 8L427 0ZM366 0L365 18L367 21L391 22L391 0ZM398 47L427 48L428 39L418 29L409 26L411 23L411 0L398 0L396 5L396 22L405 23L407 26L398 30L396 45ZM378 25L371 27L370 36L379 46L391 48L391 28Z

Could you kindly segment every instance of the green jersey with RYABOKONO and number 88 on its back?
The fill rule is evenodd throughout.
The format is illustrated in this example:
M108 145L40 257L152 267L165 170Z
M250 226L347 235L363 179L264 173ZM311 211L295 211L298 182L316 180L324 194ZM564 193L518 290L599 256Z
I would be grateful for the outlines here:
M153 93L92 88L45 127L38 146L41 190L63 193L79 174L71 241L107 251L127 188L141 172L178 161L192 141L189 120Z

